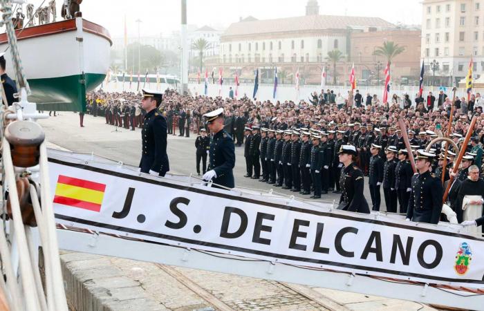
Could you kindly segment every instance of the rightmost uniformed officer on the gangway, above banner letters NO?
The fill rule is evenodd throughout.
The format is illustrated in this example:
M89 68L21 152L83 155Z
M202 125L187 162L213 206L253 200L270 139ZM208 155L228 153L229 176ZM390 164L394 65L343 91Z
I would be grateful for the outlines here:
M444 191L442 182L430 173L434 153L417 151L418 173L411 178L407 221L437 224L442 211Z

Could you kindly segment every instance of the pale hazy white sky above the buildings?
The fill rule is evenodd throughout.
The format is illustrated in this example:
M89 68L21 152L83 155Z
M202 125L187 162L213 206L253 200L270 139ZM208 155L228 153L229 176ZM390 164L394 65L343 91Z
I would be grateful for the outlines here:
M49 0L46 0L48 3ZM30 0L36 8L42 0ZM57 0L57 7L62 0ZM239 17L257 19L302 16L306 0L187 0L188 23L226 28ZM124 15L129 37L138 36L136 19L141 19L141 35L169 34L180 28L180 0L84 0L83 17L99 23L112 37L124 34ZM322 15L381 17L391 23L420 24L420 0L319 0ZM60 18L60 10L57 10Z

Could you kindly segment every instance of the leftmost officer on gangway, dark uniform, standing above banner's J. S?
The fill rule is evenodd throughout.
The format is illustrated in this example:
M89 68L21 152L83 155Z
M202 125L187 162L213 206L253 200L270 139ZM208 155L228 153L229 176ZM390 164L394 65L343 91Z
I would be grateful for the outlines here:
M169 171L167 155L167 120L158 113L162 93L143 89L142 109L147 112L141 131L142 156L140 169L142 173L154 176L165 176Z

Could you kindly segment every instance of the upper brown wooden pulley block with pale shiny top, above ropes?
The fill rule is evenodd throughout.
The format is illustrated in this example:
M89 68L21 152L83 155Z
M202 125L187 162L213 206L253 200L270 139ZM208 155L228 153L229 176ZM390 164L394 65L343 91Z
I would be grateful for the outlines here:
M39 124L32 121L15 121L5 129L5 138L12 149L16 167L35 167L39 164L40 145L46 134Z

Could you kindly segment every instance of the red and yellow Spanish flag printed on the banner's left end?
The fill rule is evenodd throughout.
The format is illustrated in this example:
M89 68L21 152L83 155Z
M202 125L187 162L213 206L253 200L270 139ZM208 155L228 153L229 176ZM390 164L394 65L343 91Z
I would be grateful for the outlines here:
M106 185L84 179L59 175L54 203L100 211Z

